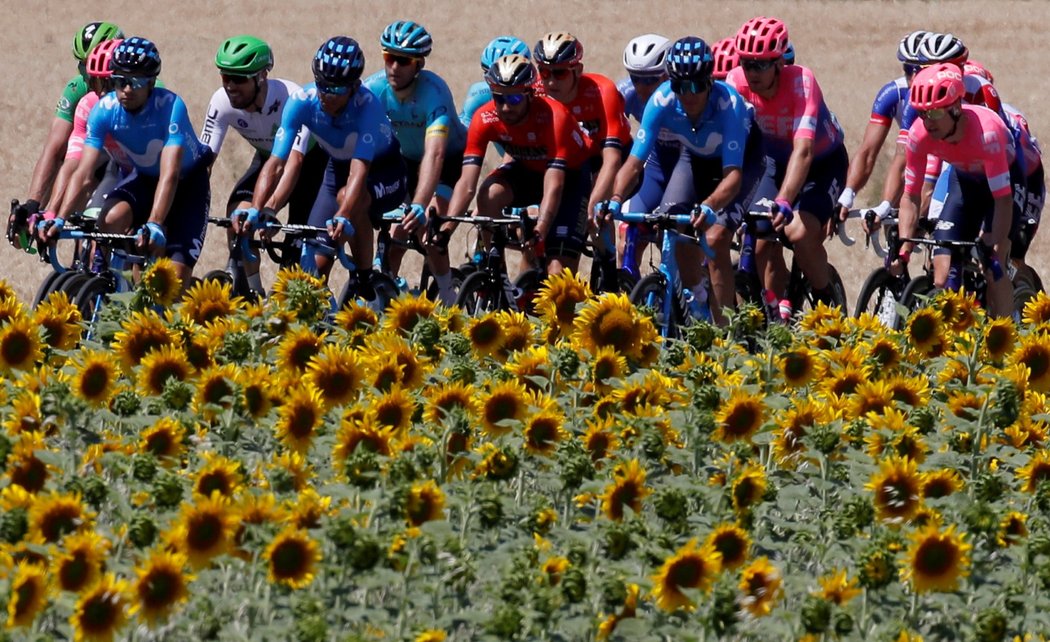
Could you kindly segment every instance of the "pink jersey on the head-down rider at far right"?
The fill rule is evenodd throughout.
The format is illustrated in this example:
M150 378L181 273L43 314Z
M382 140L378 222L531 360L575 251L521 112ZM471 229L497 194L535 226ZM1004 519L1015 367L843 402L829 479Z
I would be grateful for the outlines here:
M991 195L1007 196L1010 188L1010 164L1013 163L1013 137L1003 119L986 107L963 105L959 126L963 139L958 143L939 141L929 136L922 119L908 130L907 165L904 169L904 192L918 195L928 169L939 172L944 161L963 175L984 175ZM931 159L930 157L936 157Z

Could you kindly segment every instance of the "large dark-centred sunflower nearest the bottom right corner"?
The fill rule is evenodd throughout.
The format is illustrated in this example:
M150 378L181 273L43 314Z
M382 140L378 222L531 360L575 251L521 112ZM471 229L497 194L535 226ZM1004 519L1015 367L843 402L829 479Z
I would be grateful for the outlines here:
M907 561L901 567L901 581L910 583L916 593L952 592L960 578L969 575L970 550L966 535L948 526L943 533L936 524L911 534Z

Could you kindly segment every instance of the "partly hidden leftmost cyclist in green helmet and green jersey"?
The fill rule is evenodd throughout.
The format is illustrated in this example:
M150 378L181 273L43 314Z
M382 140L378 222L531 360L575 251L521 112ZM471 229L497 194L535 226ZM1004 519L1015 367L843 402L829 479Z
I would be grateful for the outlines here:
M62 164L63 153L72 133L74 115L80 99L89 92L87 57L96 46L106 40L124 38L121 28L111 22L89 22L72 38L72 55L78 61L79 73L66 83L55 108L55 118L47 133L47 141L33 168L29 193L23 205L29 214L36 214L47 202L52 183Z

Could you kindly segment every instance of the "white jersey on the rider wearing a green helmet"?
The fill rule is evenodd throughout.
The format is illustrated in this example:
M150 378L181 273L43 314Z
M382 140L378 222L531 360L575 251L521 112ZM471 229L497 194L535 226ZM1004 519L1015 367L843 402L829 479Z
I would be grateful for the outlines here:
M230 104L226 89L219 87L208 103L208 113L201 128L201 142L218 156L226 140L226 132L233 127L256 150L269 154L273 148L273 139L280 127L282 108L288 104L289 97L299 90L299 85L290 80L271 78L266 81L266 101L258 111L236 109ZM294 149L306 153L310 131L301 129L295 139Z

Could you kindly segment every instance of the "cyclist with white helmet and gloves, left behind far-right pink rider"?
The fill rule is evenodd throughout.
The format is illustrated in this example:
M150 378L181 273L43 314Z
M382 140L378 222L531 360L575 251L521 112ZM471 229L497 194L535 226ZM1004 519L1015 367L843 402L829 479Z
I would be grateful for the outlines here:
M928 34L929 32L923 29L911 32L902 38L897 46L897 60L903 65L904 75L884 84L875 95L875 101L872 103L872 116L864 129L864 137L861 139L860 148L854 156L854 162L849 164L846 186L839 195L839 219L841 221L845 221L848 215L857 192L864 189L868 179L872 178L872 172L875 171L875 162L879 157L879 150L886 142L890 125L897 121L898 127L901 126L901 120L908 104L908 87L911 86L911 79L921 68L922 56L919 54L919 46ZM900 161L891 165L889 172L887 172L882 202L874 208L880 216L888 214L891 203L896 203L900 199L901 177L904 169L903 159L902 154Z

